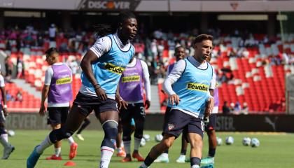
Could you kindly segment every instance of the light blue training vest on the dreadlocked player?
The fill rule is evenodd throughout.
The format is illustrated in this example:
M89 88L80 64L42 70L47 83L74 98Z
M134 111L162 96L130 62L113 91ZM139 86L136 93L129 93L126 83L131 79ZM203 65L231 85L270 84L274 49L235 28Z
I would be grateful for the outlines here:
M120 76L134 55L134 47L131 45L127 51L120 50L113 34L108 35L108 37L111 38L111 49L92 64L92 69L97 82L105 90L107 97L114 97ZM85 87L95 92L92 83L87 80L84 73L81 74L80 78Z

